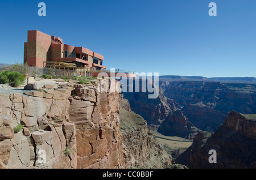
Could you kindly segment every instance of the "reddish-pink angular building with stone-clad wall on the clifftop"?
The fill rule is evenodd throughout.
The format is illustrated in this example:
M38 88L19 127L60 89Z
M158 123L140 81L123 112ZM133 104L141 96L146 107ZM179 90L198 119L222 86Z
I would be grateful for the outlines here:
M28 66L46 67L47 62L61 62L96 71L106 69L103 61L101 54L64 44L61 38L37 30L28 31L27 42L24 42L24 63Z

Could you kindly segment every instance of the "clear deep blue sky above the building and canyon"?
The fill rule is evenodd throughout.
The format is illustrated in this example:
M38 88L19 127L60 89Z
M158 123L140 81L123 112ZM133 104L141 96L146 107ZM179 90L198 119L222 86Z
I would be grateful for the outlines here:
M108 68L256 77L255 0L1 0L0 20L0 63L23 62L27 31L39 30L104 55Z

